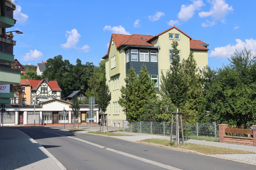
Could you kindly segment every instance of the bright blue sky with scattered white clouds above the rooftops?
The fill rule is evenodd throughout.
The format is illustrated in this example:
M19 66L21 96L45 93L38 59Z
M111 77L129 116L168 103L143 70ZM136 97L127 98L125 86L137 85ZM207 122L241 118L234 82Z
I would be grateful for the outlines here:
M220 68L234 50L256 52L256 1L19 1L14 27L15 58L22 64L62 55L75 64L98 66L111 33L158 33L175 25L193 40L208 43L208 64Z

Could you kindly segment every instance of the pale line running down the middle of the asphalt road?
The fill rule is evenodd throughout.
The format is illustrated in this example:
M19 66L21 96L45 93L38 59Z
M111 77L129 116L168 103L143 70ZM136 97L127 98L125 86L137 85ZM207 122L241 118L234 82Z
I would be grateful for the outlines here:
M57 134L58 136L64 136L64 137L72 138L72 139L74 139L74 140L81 141L81 142L83 142L83 143L87 143L87 144L89 144L89 145L93 145L93 146L99 147L100 149L106 149L106 150L108 150L108 151L115 152L116 154L124 155L124 156L127 156L127 157L129 157L129 158L133 158L133 159L136 159L136 160L140 160L141 162L145 162L145 163L148 163L148 164L156 165L157 167L161 167L161 168L165 168L165 169L170 169L170 170L182 170L182 169L179 169L179 168L171 167L170 165L162 164L162 163L159 163L159 162L155 162L155 161L153 161L153 160L141 158L141 157L139 157L139 156L135 156L135 155L132 155L132 154L128 154L128 153L126 153L126 152L122 152L122 151L118 151L118 150L115 150L115 149L111 149L111 148L109 148L109 147L105 147L105 146L102 146L102 145L98 145L98 144L96 144L96 143L92 143L92 142L89 142L89 141L81 140L81 139L79 139L79 138L70 137L70 136L65 136L65 135L63 135L63 134L51 132L51 131L48 131L48 130L43 130L43 131L44 131L44 132L48 132L48 133Z

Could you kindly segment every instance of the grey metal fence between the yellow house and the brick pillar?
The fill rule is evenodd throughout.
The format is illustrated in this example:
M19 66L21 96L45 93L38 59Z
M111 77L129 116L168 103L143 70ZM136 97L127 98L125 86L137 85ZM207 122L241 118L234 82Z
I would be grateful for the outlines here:
M171 132L171 123L152 121L123 121L123 131L169 136ZM179 137L182 137L182 129L180 123L178 131ZM216 123L183 123L183 133L184 138L204 140L204 137L210 137L212 138L212 141L219 140L219 127ZM176 123L173 124L173 135L176 135Z

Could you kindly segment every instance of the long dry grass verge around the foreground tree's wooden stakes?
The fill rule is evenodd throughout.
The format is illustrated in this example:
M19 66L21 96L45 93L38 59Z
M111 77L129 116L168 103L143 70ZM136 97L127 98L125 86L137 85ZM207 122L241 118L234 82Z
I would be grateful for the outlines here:
M148 140L142 140L140 142L156 143L158 145L163 145L163 146L192 150L192 151L200 152L202 154L255 154L255 152L226 149L223 147L215 147L215 146L207 146L207 145L198 145L195 143L184 143L184 144L180 143L180 145L175 145L174 142L170 143L169 140L148 139Z

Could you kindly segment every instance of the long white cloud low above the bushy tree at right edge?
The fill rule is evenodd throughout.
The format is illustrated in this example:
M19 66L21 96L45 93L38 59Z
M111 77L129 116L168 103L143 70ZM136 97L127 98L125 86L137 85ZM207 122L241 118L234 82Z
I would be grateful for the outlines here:
M226 45L224 47L216 47L214 50L211 51L209 54L210 57L216 57L218 59L229 58L231 55L234 54L234 51L240 52L246 48L247 50L251 50L252 53L256 54L256 40L246 39L243 42L240 39L236 39L236 45Z

